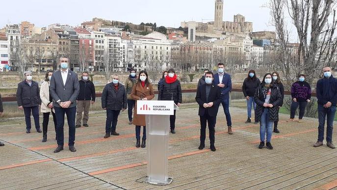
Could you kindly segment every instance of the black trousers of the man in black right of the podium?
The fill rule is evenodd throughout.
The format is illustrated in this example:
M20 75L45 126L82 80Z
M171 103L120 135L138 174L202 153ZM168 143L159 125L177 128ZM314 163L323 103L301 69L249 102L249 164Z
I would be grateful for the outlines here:
M205 145L205 139L206 139L206 123L208 122L208 130L209 130L209 141L210 145L214 146L215 141L215 122L216 122L216 116L209 116L207 109L205 111L205 114L203 116L200 116L200 144Z

